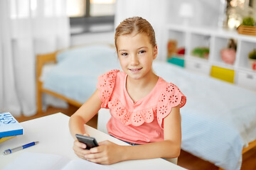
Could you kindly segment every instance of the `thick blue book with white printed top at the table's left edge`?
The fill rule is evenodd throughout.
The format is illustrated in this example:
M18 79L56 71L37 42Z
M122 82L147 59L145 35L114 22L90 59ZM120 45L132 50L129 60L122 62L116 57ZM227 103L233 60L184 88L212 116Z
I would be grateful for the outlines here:
M11 113L0 113L0 138L23 135L23 127Z

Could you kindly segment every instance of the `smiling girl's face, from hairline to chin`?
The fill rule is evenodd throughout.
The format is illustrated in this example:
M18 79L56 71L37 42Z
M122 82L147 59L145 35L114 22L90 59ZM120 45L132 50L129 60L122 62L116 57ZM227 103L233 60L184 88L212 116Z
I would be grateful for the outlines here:
M142 79L152 74L152 62L157 55L144 33L120 35L117 38L117 55L123 71L132 79Z

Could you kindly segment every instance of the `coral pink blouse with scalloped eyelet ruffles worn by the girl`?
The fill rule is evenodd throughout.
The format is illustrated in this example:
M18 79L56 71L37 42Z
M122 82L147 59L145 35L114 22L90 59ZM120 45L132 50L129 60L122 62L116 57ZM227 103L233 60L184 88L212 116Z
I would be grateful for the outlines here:
M139 101L132 101L127 89L127 74L114 69L100 76L97 89L102 108L109 108L110 135L127 142L144 144L164 140L164 118L171 108L183 107L186 96L172 83L159 77L154 89Z

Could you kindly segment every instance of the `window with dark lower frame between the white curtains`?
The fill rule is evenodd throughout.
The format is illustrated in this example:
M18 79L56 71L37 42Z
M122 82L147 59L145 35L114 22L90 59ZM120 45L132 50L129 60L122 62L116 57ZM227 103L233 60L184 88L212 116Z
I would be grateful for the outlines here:
M114 30L115 0L67 0L71 35Z

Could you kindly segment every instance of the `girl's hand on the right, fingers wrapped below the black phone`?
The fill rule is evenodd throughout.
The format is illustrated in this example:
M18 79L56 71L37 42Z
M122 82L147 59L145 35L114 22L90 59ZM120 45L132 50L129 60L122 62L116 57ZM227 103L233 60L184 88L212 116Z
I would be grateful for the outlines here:
M90 153L85 155L85 159L97 164L114 164L123 160L122 148L120 145L105 140L99 142L99 147L90 149Z

